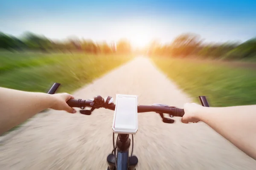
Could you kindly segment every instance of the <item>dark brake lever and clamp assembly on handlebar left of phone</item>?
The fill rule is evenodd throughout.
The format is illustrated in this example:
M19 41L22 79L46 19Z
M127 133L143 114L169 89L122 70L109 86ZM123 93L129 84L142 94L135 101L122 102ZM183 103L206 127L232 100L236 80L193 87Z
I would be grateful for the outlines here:
M91 101L92 101L92 102L90 103L91 109L90 109L90 110L80 110L80 113L81 113L81 114L84 114L84 115L91 115L92 112L93 112L95 109L101 108L102 105L111 104L111 103L113 102L113 97L108 96L107 99L104 100L102 96L96 96L96 97L94 97L94 99L91 100ZM81 109L84 109L84 107L81 107Z

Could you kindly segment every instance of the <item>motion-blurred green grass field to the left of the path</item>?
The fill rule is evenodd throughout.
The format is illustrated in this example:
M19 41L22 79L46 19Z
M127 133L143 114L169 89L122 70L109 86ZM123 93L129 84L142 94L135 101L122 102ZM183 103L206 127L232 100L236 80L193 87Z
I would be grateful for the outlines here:
M54 82L58 92L71 93L131 56L90 54L0 53L0 87L47 92Z

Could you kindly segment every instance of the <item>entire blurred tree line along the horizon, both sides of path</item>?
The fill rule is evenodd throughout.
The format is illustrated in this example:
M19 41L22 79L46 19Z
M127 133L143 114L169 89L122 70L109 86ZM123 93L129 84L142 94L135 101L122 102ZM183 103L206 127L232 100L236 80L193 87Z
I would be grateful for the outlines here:
M6 50L32 50L32 51L79 51L85 53L113 52L129 54L132 52L131 44L126 39L121 39L116 44L107 42L93 42L92 40L79 39L69 36L66 40L49 40L43 35L25 32L22 36L14 37L0 32L0 49ZM137 53L142 53L139 49ZM177 36L171 43L161 44L153 40L145 49L148 56L165 57L201 57L212 59L246 59L256 58L256 37L246 42L206 43L198 34L185 33Z

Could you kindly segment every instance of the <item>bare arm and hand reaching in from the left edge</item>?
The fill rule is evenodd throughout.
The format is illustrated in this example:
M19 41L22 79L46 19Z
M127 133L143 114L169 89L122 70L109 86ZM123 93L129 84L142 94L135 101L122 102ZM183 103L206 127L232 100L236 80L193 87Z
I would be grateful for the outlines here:
M44 94L0 88L0 134L47 108L73 113L66 101L70 94Z

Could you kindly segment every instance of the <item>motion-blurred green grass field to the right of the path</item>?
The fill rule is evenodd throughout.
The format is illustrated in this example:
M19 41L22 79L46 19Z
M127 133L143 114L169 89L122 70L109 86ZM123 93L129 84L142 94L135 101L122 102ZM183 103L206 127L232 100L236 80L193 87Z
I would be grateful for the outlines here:
M153 61L195 102L198 96L207 96L214 107L256 104L256 69L186 59Z

